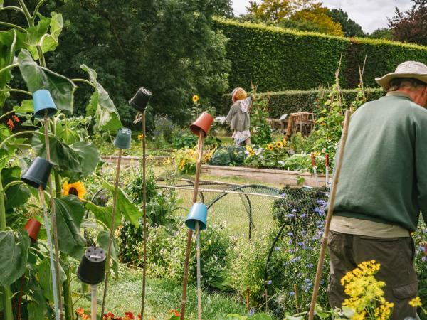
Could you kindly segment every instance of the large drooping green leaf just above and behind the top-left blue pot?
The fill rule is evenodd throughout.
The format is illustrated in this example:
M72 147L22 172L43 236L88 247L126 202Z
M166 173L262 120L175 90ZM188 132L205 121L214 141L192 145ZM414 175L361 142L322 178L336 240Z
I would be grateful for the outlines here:
M19 53L18 63L28 90L31 92L39 89L49 90L58 109L73 113L75 85L70 79L47 68L40 67L31 58L31 53L25 49Z

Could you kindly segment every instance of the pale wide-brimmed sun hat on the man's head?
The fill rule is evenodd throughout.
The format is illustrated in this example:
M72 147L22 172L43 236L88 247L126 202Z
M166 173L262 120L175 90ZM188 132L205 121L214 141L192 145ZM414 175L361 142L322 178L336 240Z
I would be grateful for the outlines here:
M418 61L405 61L397 66L394 73L375 78L375 81L387 90L390 87L390 81L396 78L415 78L427 84L427 65Z

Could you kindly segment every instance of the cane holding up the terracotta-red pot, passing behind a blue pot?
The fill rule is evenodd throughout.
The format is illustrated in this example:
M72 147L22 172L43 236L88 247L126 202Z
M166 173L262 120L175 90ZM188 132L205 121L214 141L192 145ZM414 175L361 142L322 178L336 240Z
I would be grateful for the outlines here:
M204 142L204 132L200 131L199 142L197 144L199 149L199 158L197 159L197 163L196 163L196 177L194 179L193 203L196 203L197 193L199 191L201 159L203 156L203 142ZM191 252L191 238L193 238L193 230L189 229L187 233L185 261L184 261L184 279L182 280L181 320L185 319L186 292L187 292L187 282L188 282L188 276L189 276L189 262L190 262L190 252Z

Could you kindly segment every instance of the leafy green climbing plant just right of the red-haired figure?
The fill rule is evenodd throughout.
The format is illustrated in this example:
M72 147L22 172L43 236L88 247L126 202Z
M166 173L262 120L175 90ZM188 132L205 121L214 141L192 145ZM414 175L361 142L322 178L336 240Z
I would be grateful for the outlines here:
M255 100L251 107L251 143L268 144L271 142L268 117L268 100L265 98Z

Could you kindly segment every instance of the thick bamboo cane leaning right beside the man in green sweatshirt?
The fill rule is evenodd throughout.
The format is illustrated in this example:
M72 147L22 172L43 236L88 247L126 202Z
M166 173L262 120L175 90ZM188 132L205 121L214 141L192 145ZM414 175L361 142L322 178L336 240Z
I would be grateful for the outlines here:
M315 315L317 292L319 292L320 278L322 277L323 262L325 260L325 253L326 253L326 247L327 247L327 235L329 233L331 219L334 213L335 195L337 193L337 184L339 182L339 174L341 172L342 159L344 157L344 149L345 149L345 144L347 142L349 124L350 124L350 110L347 110L345 112L344 127L342 129L341 144L339 146L337 167L335 168L335 174L334 174L334 177L332 178L331 196L330 196L330 202L327 210L325 231L322 236L322 247L320 248L319 261L317 262L315 284L313 287L313 294L312 294L312 299L310 303L310 311L308 314L309 320L312 320Z

